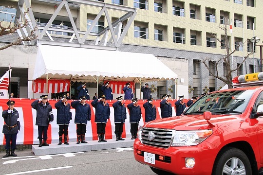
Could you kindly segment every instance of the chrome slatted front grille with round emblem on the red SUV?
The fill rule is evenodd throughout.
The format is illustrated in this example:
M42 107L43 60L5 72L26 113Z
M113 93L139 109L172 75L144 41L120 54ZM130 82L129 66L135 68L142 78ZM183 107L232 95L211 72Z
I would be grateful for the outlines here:
M159 148L169 148L173 137L172 131L173 130L169 130L169 129L143 128L142 143ZM154 134L153 140L148 139L150 132Z

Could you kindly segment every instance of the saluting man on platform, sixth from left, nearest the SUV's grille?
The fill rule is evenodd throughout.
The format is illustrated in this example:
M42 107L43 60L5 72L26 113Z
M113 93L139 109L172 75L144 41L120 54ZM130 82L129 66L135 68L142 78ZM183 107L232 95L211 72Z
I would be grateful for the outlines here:
M130 111L130 123L131 123L131 140L137 138L138 126L142 117L141 107L138 105L138 98L131 100L131 104L127 105Z

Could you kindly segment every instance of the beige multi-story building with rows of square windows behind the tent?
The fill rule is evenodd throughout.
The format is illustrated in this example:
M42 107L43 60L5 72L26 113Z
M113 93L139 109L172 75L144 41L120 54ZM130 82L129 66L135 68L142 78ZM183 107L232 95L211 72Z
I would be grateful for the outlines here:
M97 1L116 4L120 9L122 7L137 8L137 15L118 50L151 53L158 57L177 73L178 86L176 90L178 95L185 95L185 97L199 95L207 90L214 91L225 85L219 79L211 76L205 64L202 63L202 60L209 58L207 65L211 70L216 71L215 63L225 57L226 50L224 44L221 44L221 42L224 42L225 31L220 26L224 27L226 25L229 28L232 21L233 32L230 34L227 30L227 35L230 48L236 49L232 57L234 69L242 63L244 56L253 52L253 43L250 39L257 36L263 40L263 22L260 19L263 10L263 1L261 0ZM12 15L16 14L17 2L18 0L0 1L1 20L8 21ZM30 2L41 33L41 26L44 27L48 23L61 0L31 0ZM3 10L3 7L7 6L9 8ZM87 31L101 10L100 7L78 4L78 0L69 3L69 7L78 31ZM123 14L123 12L116 10L109 11L109 17L112 21L117 20ZM128 21L122 22L122 30ZM108 26L107 15L102 14L91 32L99 33L106 26ZM56 16L52 22L52 27L60 29L72 29L74 27L65 8L62 8ZM66 41L72 37L72 33L68 32L49 30L48 33L56 41ZM218 40L213 36L216 36ZM46 36L46 38L48 37ZM0 37L0 42L9 42L10 40L12 38L10 39L8 36ZM94 43L95 41L96 37L92 35L86 39L86 42ZM262 47L254 47L255 52L249 55L244 62L244 66L235 71L233 76L260 71L260 66L262 66L260 48ZM20 97L32 97L30 95L30 81L32 81L36 48L37 46L17 46L0 51L1 57L5 56L6 58L1 61L0 73L3 74L10 60L13 62L13 69L19 70L19 74L14 76L17 76L20 80ZM18 58L18 55L21 55L18 52L23 53L22 58ZM255 65L253 65L254 62ZM136 67L137 64L140 63L133 63L132 60L129 60L127 68ZM151 68L145 65L145 69ZM227 73L223 62L217 64L217 70L219 76L222 77ZM164 93L173 94L173 98L177 98L175 97L175 90L172 90L175 88L175 83L172 80L151 83L157 87L157 90L153 93L154 98L160 98ZM137 86L137 89L139 88Z

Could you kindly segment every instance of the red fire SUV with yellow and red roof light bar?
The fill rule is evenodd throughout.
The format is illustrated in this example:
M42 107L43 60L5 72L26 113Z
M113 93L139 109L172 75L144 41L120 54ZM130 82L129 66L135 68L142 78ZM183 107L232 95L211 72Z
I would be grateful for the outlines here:
M200 97L183 115L144 124L135 159L158 175L262 174L261 80L263 72L236 77L235 88Z

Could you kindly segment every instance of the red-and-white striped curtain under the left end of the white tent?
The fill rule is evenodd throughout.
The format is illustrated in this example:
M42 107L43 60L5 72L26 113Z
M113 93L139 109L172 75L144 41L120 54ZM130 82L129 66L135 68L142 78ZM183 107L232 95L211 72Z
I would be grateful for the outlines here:
M47 92L47 80L36 79L33 82L34 93L59 93L70 90L70 80L48 80L48 92Z

